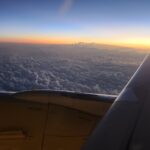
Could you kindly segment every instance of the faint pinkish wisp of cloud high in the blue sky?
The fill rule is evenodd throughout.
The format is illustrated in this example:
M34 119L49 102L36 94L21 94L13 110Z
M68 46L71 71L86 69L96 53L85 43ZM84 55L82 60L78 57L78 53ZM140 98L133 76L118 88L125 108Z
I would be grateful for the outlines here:
M66 13L68 13L73 6L73 2L74 0L64 0L63 4L60 7L60 14L65 15Z

